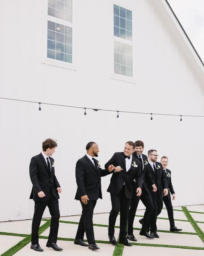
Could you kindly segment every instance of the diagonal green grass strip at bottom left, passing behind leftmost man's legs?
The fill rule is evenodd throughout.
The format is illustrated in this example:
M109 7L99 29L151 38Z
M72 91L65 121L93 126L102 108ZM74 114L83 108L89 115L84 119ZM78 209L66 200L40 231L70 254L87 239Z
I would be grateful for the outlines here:
M46 221L46 223L39 228L38 234L43 233L43 231L45 231L49 226L50 226L50 220ZM17 253L19 250L21 250L24 246L26 246L30 242L31 242L31 235L28 235L23 240L19 241L19 243L16 243L14 246L12 246L5 253L1 254L1 256L12 256L13 254Z

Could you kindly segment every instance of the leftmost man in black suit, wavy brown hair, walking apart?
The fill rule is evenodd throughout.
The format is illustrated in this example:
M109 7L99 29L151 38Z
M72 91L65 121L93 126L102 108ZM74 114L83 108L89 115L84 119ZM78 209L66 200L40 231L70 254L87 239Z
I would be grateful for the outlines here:
M43 152L31 158L30 178L33 184L30 199L35 202L34 215L31 231L31 249L42 252L43 249L38 243L38 230L43 212L48 206L51 215L50 231L47 247L61 251L57 246L57 234L59 228L59 195L62 189L55 176L54 159L51 157L57 147L56 141L46 139L43 141Z

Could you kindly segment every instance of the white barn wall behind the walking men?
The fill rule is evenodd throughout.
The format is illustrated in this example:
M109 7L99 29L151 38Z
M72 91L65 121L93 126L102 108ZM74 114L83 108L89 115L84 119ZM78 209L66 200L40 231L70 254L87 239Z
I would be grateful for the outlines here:
M113 2L74 0L74 67L45 61L46 4L41 0L0 2L0 97L69 106L203 115L204 83L196 67L179 48L177 38L149 0L118 0L133 10L133 83L113 75ZM9 15L8 15L9 13ZM130 79L129 79L130 80ZM176 201L173 205L201 204L203 118L94 112L59 106L0 100L1 196L0 221L32 218L28 166L45 138L56 138L53 155L62 186L61 215L80 214L75 163L88 141L99 144L104 166L124 143L140 139L169 157ZM95 212L111 209L106 192L111 176L102 177L103 200ZM140 208L144 208L142 203ZM49 216L46 210L45 217Z

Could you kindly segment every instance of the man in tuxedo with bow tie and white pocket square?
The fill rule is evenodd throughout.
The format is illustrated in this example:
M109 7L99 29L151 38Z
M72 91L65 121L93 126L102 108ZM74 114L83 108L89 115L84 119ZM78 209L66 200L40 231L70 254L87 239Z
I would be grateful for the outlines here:
M136 179L135 193L141 195L142 174L140 161L133 157L135 144L128 141L125 144L124 152L117 152L111 157L105 167L114 165L115 171L111 177L111 182L108 187L108 192L111 193L112 209L109 216L108 237L110 243L117 244L114 237L114 226L117 214L120 211L120 236L119 243L124 243L126 246L132 246L128 243L127 234L127 216L130 207L130 199L133 193L133 179Z

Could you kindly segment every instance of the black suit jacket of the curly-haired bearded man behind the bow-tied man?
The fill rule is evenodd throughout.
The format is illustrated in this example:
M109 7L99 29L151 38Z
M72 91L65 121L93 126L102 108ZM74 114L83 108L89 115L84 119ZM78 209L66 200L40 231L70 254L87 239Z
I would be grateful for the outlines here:
M136 154L136 152L133 152L133 156L139 160L139 157L138 155ZM142 166L141 166L141 171L142 171L142 181L143 181L143 185L142 185L142 191L145 189L145 191L150 194L149 192L149 188L148 188L148 185L147 185L147 182L151 185L155 184L154 182L154 179L152 178L151 176L151 172L148 168L148 157L144 154L142 154L142 159L143 159L143 162L144 162L144 169L142 170ZM151 190L152 190L152 187L151 187Z

